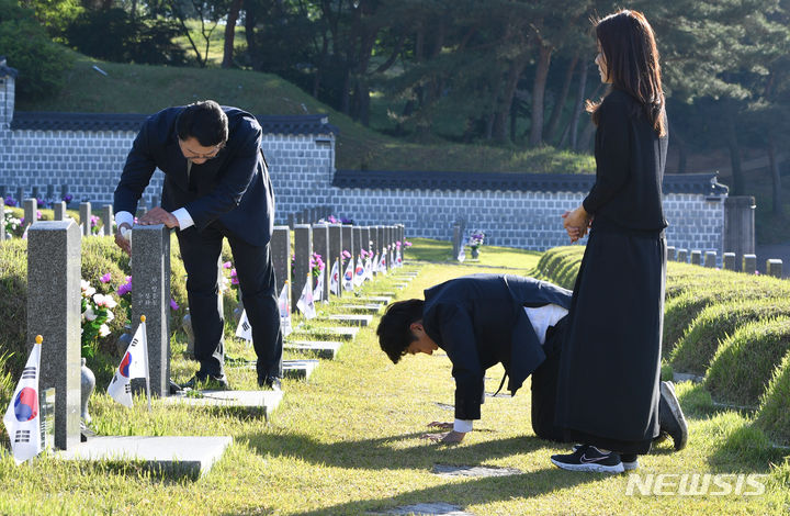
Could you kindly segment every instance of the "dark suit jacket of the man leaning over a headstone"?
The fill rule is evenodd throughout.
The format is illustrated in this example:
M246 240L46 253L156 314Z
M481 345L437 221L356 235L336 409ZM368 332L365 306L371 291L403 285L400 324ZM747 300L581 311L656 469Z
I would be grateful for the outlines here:
M261 145L261 127L249 113L223 106L228 117L228 141L219 154L202 165L192 165L178 144L176 119L183 106L149 116L134 141L121 181L115 189L115 213L135 213L137 201L154 170L165 172L161 207L185 207L202 231L219 221L239 238L266 245L274 227L274 192Z

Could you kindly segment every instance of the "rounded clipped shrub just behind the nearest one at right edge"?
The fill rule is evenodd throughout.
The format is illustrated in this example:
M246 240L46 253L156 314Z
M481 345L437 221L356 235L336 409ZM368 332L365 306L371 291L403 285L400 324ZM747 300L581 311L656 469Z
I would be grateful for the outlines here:
M790 349L790 318L741 327L719 346L704 384L711 395L737 405L757 405L774 369Z

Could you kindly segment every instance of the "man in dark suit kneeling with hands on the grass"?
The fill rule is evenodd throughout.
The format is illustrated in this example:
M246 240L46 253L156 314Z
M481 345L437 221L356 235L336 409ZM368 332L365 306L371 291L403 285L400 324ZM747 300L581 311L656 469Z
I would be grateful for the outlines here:
M425 301L393 303L376 330L379 344L393 363L407 354L431 355L441 348L453 366L455 422L429 425L452 430L424 437L460 442L472 431L472 422L481 418L485 371L501 363L511 394L532 375L535 435L564 441L565 429L555 425L554 412L572 296L569 290L533 278L473 274L426 290ZM679 450L686 446L688 427L672 384L662 383L666 389L661 393L657 439L672 436ZM636 459L631 460L631 469L636 468Z

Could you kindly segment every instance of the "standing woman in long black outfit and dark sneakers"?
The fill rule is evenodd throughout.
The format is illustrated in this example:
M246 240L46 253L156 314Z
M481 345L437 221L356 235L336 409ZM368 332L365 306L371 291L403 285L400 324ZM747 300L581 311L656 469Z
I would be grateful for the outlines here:
M590 236L574 287L557 385L556 424L573 453L552 462L575 471L637 467L658 435L661 341L667 223L662 179L667 120L653 30L621 10L596 24L603 100L588 102L597 124L596 182L565 213L572 242Z

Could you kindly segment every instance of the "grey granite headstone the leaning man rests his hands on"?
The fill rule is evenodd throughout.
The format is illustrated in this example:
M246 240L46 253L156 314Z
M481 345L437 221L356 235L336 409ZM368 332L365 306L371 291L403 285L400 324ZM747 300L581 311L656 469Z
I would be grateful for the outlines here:
M132 325L146 316L151 395L170 393L170 229L132 228Z

